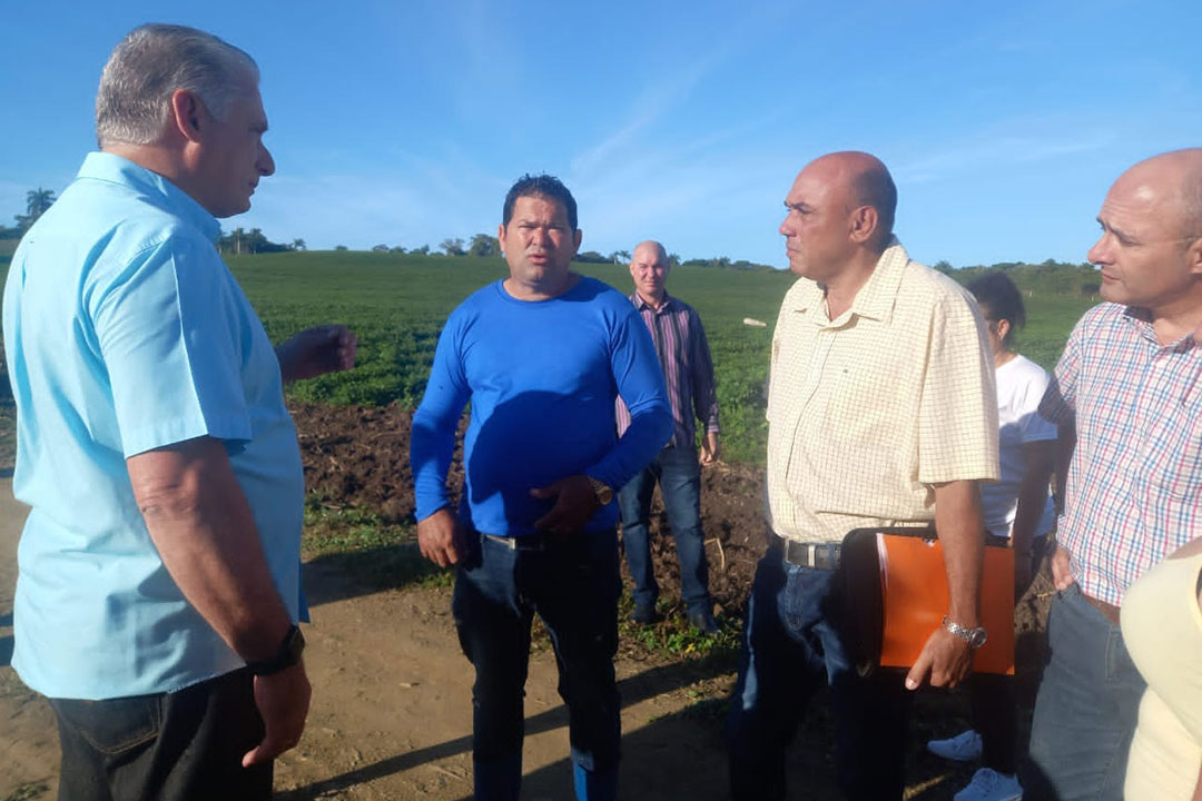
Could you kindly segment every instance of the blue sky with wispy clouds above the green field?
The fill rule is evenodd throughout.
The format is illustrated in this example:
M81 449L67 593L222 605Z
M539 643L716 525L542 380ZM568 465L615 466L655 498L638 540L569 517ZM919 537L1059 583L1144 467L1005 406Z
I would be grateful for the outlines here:
M583 250L654 238L784 267L795 174L862 149L893 172L915 258L1081 262L1124 168L1202 144L1200 0L168 8L6 8L0 221L67 185L108 53L151 20L258 61L278 171L224 225L310 249L495 233L508 185L546 171L579 203Z

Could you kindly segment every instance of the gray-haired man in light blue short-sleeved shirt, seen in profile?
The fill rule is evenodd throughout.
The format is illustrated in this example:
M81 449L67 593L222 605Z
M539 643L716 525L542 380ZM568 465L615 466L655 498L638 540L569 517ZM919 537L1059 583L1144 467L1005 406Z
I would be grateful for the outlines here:
M22 240L13 668L49 697L60 797L256 797L297 743L304 480L281 383L355 361L340 325L273 348L214 243L275 165L254 60L189 28L118 44L100 153Z

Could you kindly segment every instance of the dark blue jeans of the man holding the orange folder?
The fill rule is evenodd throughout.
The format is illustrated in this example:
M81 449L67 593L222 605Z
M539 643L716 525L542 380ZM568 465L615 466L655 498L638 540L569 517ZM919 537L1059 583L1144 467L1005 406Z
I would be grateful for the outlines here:
M760 560L726 722L736 801L785 797L785 748L810 698L827 682L844 794L857 801L902 797L912 694L899 673L861 679L851 666L840 584L834 570L784 562L778 548Z

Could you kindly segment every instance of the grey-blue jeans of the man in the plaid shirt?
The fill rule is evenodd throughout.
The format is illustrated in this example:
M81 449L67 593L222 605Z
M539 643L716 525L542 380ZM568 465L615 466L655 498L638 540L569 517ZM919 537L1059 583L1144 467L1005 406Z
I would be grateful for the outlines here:
M1121 801L1147 686L1123 632L1073 585L1052 602L1048 646L1052 657L1035 700L1023 797Z

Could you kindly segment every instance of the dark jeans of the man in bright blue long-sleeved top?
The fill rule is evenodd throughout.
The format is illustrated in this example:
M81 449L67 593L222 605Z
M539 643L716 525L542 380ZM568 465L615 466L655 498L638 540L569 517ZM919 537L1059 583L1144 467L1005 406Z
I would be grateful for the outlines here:
M534 615L546 624L567 706L577 797L617 790L620 704L618 538L609 528L569 534L548 550L511 550L488 538L458 569L452 610L476 668L472 758L476 799L512 799L522 782L523 697Z

